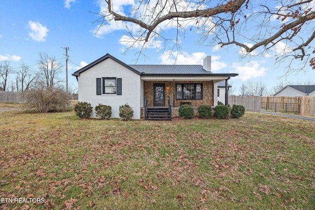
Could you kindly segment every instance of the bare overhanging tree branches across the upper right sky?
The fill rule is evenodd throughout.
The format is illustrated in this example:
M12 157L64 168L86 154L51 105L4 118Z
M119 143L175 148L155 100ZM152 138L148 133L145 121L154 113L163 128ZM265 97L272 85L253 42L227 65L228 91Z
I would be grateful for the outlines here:
M130 48L164 39L180 49L190 30L203 45L236 45L250 56L275 52L277 61L288 59L288 72L295 70L290 65L295 59L315 69L314 0L140 0L126 15L115 7L117 1L104 1L100 27L125 23ZM167 37L167 27L177 30L175 37Z

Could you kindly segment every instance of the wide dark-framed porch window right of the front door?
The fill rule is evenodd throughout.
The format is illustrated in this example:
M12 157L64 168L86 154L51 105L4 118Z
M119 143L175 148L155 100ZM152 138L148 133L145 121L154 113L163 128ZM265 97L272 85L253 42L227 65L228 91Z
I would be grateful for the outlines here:
M202 84L177 84L176 99L202 99Z

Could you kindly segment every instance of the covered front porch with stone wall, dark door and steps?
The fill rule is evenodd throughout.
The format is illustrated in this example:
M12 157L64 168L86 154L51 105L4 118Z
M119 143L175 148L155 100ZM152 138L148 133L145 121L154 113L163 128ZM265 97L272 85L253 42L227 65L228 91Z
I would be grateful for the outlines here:
M148 109L165 112L165 116L169 109L170 117L178 117L178 109L181 105L192 106L195 113L200 105L214 107L218 104L217 82L227 79L229 78L225 75L217 78L142 78L141 118L146 118Z

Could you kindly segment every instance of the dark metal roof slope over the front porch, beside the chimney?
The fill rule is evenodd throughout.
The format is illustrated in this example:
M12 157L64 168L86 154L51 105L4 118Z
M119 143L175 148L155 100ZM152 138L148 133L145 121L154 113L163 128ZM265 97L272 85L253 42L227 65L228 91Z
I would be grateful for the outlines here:
M145 74L213 74L203 69L202 65L129 65Z

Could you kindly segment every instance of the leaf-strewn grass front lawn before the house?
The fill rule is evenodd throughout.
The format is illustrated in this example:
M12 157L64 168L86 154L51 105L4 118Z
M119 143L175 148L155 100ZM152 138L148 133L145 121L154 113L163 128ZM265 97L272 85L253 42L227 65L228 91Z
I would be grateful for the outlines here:
M315 209L310 121L6 111L0 145L0 209Z

